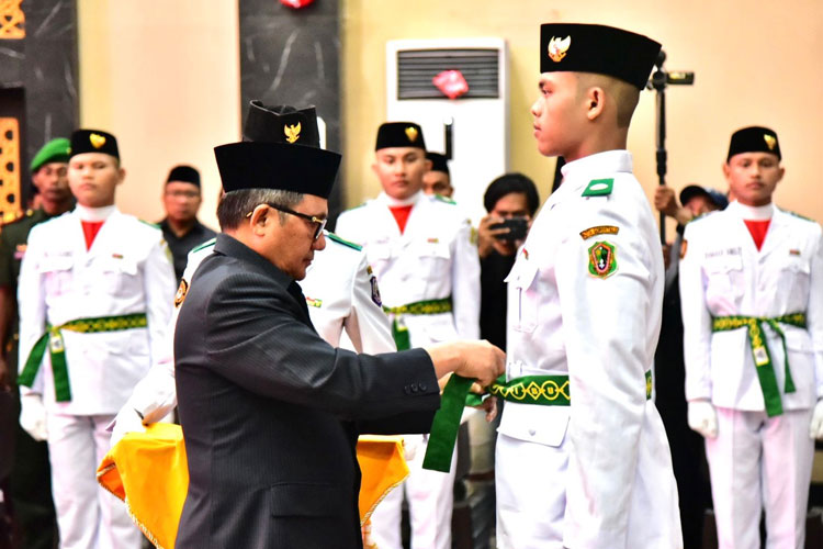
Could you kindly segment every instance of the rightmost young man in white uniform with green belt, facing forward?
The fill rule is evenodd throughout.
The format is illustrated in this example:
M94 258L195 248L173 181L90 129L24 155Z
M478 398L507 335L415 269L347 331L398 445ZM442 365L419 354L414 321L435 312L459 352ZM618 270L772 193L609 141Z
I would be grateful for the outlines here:
M823 246L773 203L777 134L732 135L735 201L686 226L680 260L689 426L706 437L721 548L802 548L823 436Z

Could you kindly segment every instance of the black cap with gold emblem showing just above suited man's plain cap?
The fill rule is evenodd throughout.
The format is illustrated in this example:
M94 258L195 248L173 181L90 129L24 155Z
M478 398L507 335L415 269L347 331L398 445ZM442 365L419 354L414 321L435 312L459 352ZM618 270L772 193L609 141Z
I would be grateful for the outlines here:
M292 143L319 148L317 112L314 107L297 110L282 104L267 107L260 100L252 100L243 126L243 141Z

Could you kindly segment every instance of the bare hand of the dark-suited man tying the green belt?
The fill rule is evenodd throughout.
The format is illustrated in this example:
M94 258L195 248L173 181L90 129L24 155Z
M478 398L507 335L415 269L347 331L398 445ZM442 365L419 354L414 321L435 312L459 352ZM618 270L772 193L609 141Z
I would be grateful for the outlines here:
M426 351L438 378L454 372L486 386L506 371L506 354L486 340L438 344L426 347Z

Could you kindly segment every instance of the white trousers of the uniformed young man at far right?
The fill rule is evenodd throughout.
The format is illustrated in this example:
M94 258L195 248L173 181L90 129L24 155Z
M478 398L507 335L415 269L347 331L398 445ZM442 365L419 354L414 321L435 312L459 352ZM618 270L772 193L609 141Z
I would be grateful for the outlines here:
M706 439L720 549L802 549L814 441L811 410L765 412L718 407L718 436Z

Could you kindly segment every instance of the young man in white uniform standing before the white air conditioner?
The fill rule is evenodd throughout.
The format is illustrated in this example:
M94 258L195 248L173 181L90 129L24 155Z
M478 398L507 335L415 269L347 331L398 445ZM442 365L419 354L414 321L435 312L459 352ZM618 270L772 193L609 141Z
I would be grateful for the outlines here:
M373 169L383 192L337 221L337 233L361 244L369 256L398 349L480 337L477 248L469 220L454 203L422 192L429 166L419 125L381 125ZM425 440L406 437L412 547L448 549L454 469L449 474L422 470ZM403 493L392 492L372 516L372 533L381 549L402 547Z

